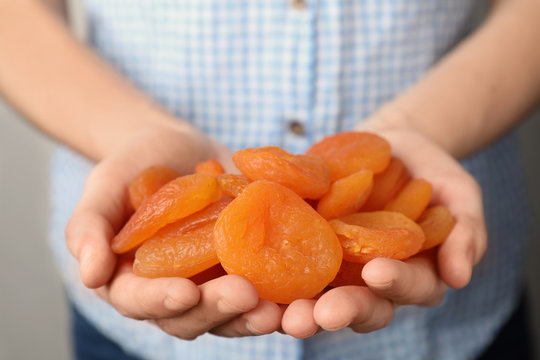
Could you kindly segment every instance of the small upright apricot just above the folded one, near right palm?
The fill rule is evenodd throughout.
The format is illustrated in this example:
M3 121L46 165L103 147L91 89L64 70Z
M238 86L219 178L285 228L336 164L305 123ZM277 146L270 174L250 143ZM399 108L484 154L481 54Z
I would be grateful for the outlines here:
M416 220L431 201L433 186L424 179L412 179L384 207L387 211L400 212L411 220Z

